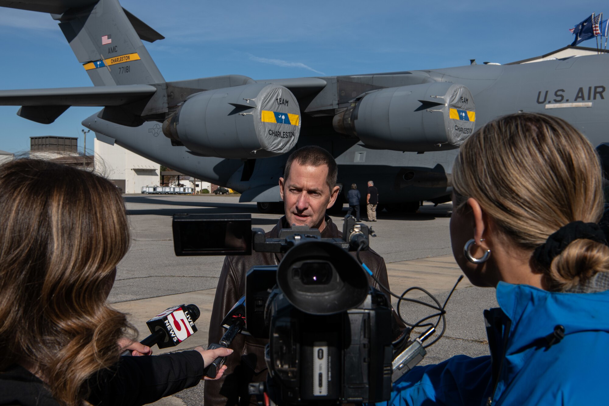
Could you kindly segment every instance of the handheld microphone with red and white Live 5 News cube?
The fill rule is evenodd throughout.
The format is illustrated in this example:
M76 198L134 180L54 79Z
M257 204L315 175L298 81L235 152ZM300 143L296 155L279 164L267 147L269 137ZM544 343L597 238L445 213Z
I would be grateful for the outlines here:
M197 331L194 322L200 314L199 307L194 304L167 308L146 322L151 334L140 343L149 347L155 344L159 348L175 347ZM131 355L131 351L126 350L121 355Z

